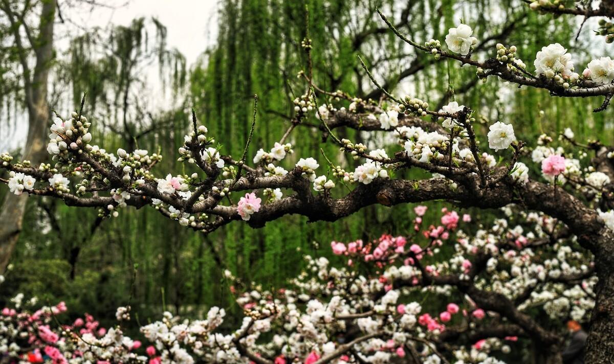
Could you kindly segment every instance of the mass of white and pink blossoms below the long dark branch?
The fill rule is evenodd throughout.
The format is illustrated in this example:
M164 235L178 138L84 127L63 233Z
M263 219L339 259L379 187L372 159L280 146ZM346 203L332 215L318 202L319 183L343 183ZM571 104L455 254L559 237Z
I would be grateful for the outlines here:
M510 352L519 337L532 338L512 327L503 336L489 334L492 327L505 327L507 317L541 306L553 323L569 317L586 321L594 305L593 263L573 252L573 239L561 235L556 220L515 208L504 209L505 217L490 228L469 234L464 228L475 226L468 214L461 218L444 208L441 225L426 226L427 207L417 206L408 236L333 241L332 252L343 265L306 256L305 272L286 287L238 293L245 316L231 333L218 331L224 309L213 307L201 320L165 312L160 321L141 327L146 342L141 344L123 334L130 307L117 309L119 323L106 330L87 314L61 323L63 303L31 313L36 300L25 302L20 295L12 300L15 308L2 309L0 349L4 357L33 363L386 363L407 352L424 362L498 362L497 353ZM544 239L555 242L544 246ZM446 246L454 254L442 260ZM235 281L228 271L226 277ZM437 308L419 303L424 295L443 302L463 298ZM492 306L483 295L502 304ZM506 300L518 306L510 308ZM462 334L476 339L459 340ZM443 343L449 349L442 353Z

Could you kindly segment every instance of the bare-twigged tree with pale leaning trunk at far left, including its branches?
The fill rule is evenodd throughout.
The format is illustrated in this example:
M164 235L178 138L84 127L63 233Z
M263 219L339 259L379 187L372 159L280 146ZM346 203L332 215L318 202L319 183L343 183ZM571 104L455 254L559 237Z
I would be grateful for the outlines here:
M15 95L25 104L28 112L28 141L23 152L23 159L31 163L40 163L45 158L45 132L51 115L48 90L49 69L53 61L53 29L55 26L55 0L45 0L37 4L31 1L14 2L3 0L2 38L12 39L4 56L2 69L3 83L13 85L3 90L4 98ZM28 19L34 17L37 23L32 25ZM37 28L37 29L34 29ZM3 52L4 53L4 52ZM17 69L21 72L16 77L9 76ZM34 64L34 66L33 66ZM9 91L4 93L4 91ZM7 195L0 211L0 271L6 269L10 255L15 249L21 231L26 199Z

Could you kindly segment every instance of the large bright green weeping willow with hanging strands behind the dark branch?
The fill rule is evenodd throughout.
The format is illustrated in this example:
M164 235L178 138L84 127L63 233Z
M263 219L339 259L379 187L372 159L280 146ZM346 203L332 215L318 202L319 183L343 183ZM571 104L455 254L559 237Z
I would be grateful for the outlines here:
M223 144L228 152L240 153L249 135L252 113L249 100L257 93L262 122L254 140L262 144L279 140L287 126L295 123L292 101L301 95L302 82L305 76L309 77L309 74L296 77L308 61L300 44L306 34L313 46L314 82L327 90L341 89L365 99L380 98L381 91L373 87L357 66L356 56L360 54L374 72L386 75L383 82L387 88L411 85L418 91L433 93L437 98L435 104L447 103L452 90L454 95L466 94L475 103L488 104L495 99L495 87L478 84L470 72L447 72L445 63L436 63L398 44L374 16L376 4L394 14L398 29L425 39L443 36L459 17L471 20L480 33L488 34L476 48L478 54L510 37L535 47L531 44L538 41L534 29L544 22L526 14L526 9L513 1L472 1L472 9L479 9L476 12L468 11L456 1L225 1L220 7L217 43L203 55L200 66L190 76L197 117L209 130L233 135L232 141ZM454 14L453 9L460 9L461 14ZM492 15L495 12L497 15ZM559 29L556 37L561 39L575 31L564 20L556 24ZM514 33L514 29L518 32ZM520 39L518 34L526 38ZM426 77L427 74L449 77ZM313 153L322 163L324 158L319 149L330 154L334 148L322 142L320 131L317 123L301 123L290 134L289 141L308 141L300 145L300 151ZM348 129L341 133L341 136L359 138L365 144L382 136L382 133L367 135ZM254 147L250 147L249 153L255 153ZM351 158L339 158L354 163ZM239 276L257 274L264 281L276 281L296 273L300 261L287 264L283 259L296 249L314 249L312 241L330 234L351 238L359 233L363 239L370 239L384 230L403 231L408 227L408 211L405 208L366 209L352 219L331 225L305 226L301 224L304 220L292 220L302 227L293 236L282 235L286 231L282 224L267 227L256 236L249 236L249 230L243 227L229 227L212 236L211 241L222 258L227 257L223 259L225 266ZM374 226L363 219L375 219L378 224ZM258 249L251 249L247 244L254 239ZM280 240L284 244L278 244ZM282 269L281 274L278 269Z

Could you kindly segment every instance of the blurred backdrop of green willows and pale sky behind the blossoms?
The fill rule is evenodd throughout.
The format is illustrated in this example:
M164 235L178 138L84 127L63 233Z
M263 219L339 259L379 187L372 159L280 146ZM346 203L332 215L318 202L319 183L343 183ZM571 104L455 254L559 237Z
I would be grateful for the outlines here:
M84 114L92 122L95 144L106 150L160 152L165 160L154 172L181 172L176 150L190 128L193 107L209 134L223 144L222 153L237 157L257 94L251 160L257 149L270 149L279 140L293 116L292 100L305 92L297 74L306 68L300 44L307 31L314 47L314 79L322 89L379 99L381 93L360 68L360 55L397 95L426 99L433 109L452 99L472 107L483 123L477 126L478 135L486 134L488 123L502 120L513 123L518 139L529 145L542 132L553 135L567 127L578 140L614 141L612 108L592 112L600 99L551 98L546 91L518 90L500 80L478 82L471 69L435 62L405 47L375 12L381 7L402 33L419 43L431 38L443 43L448 28L462 19L478 37L478 58L494 56L497 42L516 45L530 71L535 53L554 42L572 53L577 72L592 56L612 53L611 45L593 34L596 20L581 27L581 18L538 15L520 0L58 0L52 18L41 16L50 0L0 1L0 152L16 156L25 150L29 131L20 56L34 68L37 47L46 45L53 50L44 64L49 79L30 87L47 88L50 107L63 115L78 108L85 93ZM21 47L7 9L36 33L45 21L53 21L55 31L45 43L34 39L34 47ZM28 37L25 28L19 31ZM284 166L290 168L300 157L317 158L325 166L322 148L335 163L354 169L356 162L323 142L313 125L315 117L311 125L293 131L289 142L295 154ZM39 134L45 138L44 131ZM340 129L338 135L370 145L384 143L380 133ZM424 177L404 173L400 177ZM0 198L7 192L0 188ZM450 205L435 201L429 206ZM370 241L383 233L408 233L413 207L371 206L336 223L287 216L258 230L236 222L206 236L150 208L125 209L117 218L101 220L93 209L31 198L6 282L0 285L0 305L22 292L43 302L66 301L69 311L89 312L103 324L111 323L115 308L126 304L141 323L158 317L162 309L198 317L217 305L234 313L227 324L235 325L241 310L223 280L224 269L248 285L283 287L303 268L303 254L335 260L332 240ZM484 223L499 214L464 212Z

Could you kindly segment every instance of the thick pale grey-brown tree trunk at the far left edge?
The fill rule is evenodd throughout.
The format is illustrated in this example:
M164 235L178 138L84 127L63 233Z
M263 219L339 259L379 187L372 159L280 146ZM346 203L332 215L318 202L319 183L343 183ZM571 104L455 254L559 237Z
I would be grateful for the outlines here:
M49 80L49 66L53 59L53 22L55 19L55 0L45 0L42 4L39 36L34 40L32 47L36 54L36 66L32 79L27 79L29 69L27 63L24 67L24 83L26 102L28 104L28 141L23 153L23 160L29 160L33 165L41 163L45 158L45 137L49 125L50 109L47 103L47 83ZM10 10L10 8L9 8ZM17 29L17 32L19 30ZM17 37L17 36L16 36ZM21 51L25 48L21 40L17 40ZM4 273L9 264L10 255L15 249L23 214L26 210L27 197L7 194L2 211L0 211L0 274Z

